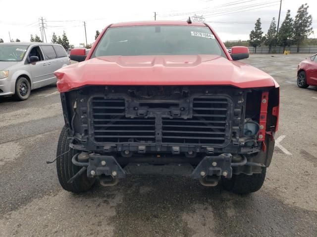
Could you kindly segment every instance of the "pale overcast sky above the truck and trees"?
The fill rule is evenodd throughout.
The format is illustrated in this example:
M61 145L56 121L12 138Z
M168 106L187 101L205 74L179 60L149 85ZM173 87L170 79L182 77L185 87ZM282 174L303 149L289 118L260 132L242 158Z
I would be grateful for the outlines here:
M313 16L314 34L317 38L317 0L282 0L280 25L287 9L295 18L298 7L308 3ZM261 17L262 31L278 18L280 0L0 0L0 38L29 41L30 35L41 37L39 18L45 19L46 39L51 42L53 32L58 36L66 32L75 47L95 41L96 30L108 24L124 21L186 20L188 16L203 15L222 41L248 40L256 20ZM45 40L44 40L45 41Z

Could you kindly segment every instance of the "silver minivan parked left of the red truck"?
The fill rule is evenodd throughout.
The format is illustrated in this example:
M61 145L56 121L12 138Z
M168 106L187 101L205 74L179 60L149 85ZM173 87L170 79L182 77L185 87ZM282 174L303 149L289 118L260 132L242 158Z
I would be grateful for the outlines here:
M59 44L0 43L0 97L26 100L31 90L56 83L54 71L70 64Z

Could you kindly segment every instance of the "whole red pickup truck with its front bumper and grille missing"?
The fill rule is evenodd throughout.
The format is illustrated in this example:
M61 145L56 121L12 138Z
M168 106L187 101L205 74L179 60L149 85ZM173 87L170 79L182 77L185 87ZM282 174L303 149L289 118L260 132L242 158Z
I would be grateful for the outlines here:
M55 72L65 126L57 175L70 192L128 174L183 175L259 190L274 150L279 85L235 60L208 24L111 24Z

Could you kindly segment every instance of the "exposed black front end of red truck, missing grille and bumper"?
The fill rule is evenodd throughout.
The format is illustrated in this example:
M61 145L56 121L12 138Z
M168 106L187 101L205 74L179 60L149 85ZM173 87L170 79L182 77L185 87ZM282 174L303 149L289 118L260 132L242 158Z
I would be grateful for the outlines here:
M61 93L74 165L114 185L126 174L220 177L268 167L275 87L85 86Z

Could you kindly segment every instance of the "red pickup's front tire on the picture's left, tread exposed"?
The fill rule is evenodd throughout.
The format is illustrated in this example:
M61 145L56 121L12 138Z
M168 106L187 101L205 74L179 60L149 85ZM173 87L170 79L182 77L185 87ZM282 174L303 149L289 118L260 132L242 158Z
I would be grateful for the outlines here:
M71 159L74 155L78 153L78 151L73 150L69 147L69 140L67 139L67 134L68 129L64 126L59 135L56 153L56 157L58 157L56 159L58 181L61 187L68 192L86 192L91 189L96 180L95 178L88 178L87 171L80 175L72 183L67 183L67 181L82 168L80 166L74 165L71 162Z

